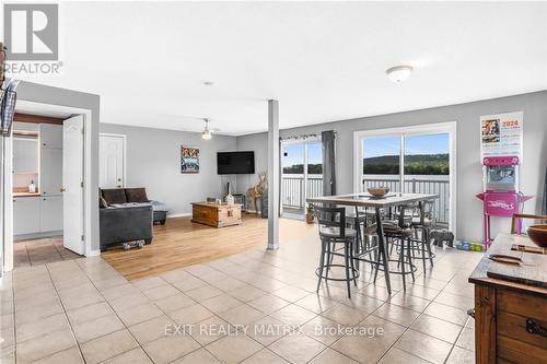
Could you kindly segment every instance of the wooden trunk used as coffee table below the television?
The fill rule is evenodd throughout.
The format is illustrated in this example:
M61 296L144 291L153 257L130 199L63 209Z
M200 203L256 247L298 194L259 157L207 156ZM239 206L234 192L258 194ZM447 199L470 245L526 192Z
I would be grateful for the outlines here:
M195 202L191 204L191 221L213 227L240 225L241 204Z

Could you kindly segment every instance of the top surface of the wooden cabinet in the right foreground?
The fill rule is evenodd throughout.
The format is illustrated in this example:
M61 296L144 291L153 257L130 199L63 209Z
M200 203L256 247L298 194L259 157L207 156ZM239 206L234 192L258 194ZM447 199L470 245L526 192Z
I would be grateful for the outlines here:
M547 289L526 284L528 280L547 281L547 255L511 250L513 244L537 247L525 235L499 234L493 240L485 257L469 277L469 282L496 287L505 287L547 297ZM511 265L493 261L489 258L492 254L503 254L520 257L521 265ZM488 272L502 273L509 279L488 277Z

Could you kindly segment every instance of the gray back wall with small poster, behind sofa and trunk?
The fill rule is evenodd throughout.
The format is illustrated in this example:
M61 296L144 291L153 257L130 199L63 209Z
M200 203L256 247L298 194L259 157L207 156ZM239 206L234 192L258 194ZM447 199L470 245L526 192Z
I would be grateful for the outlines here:
M225 189L228 177L217 174L217 152L235 151L235 137L202 140L197 132L113 124L101 124L101 132L127 136L126 186L146 187L148 197L165 202L172 215L190 213L190 202L220 197ZM199 148L199 174L181 174L181 145Z

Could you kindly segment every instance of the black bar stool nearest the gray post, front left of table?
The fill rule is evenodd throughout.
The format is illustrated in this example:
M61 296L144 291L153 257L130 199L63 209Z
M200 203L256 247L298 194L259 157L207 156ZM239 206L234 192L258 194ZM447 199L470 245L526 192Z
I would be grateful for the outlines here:
M357 285L359 271L353 263L353 244L356 244L357 231L346 227L346 209L314 206L315 216L321 238L319 268L315 271L318 277L317 292L319 292L322 279L326 281L345 281L348 286L348 297L351 298L350 281ZM337 249L336 245L344 247ZM344 253L339 253L344 250ZM344 257L344 265L334 263L334 256ZM345 268L346 278L328 277L330 268ZM350 273L351 271L351 273Z

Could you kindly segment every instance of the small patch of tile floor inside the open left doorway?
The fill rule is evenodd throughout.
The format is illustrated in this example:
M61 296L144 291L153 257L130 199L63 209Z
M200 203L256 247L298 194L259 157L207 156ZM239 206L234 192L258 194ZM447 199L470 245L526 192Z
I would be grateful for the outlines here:
M62 236L21 240L13 245L14 268L46 265L79 257L78 254L65 249Z

